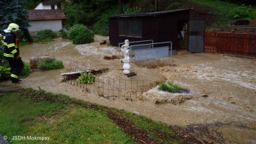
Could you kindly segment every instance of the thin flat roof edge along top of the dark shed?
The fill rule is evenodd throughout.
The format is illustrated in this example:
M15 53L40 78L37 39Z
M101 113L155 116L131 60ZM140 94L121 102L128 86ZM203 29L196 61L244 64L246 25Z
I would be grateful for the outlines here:
M169 14L173 12L182 12L182 11L189 11L190 9L174 9L170 11L163 11L163 12L147 12L147 13L138 13L138 14L123 14L123 15L116 15L111 16L109 18L119 18L119 17L147 17L147 16L156 16L161 14Z

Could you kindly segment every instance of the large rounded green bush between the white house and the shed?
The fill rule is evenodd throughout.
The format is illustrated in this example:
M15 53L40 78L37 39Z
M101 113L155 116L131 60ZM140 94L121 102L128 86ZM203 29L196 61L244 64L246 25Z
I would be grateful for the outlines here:
M94 33L82 24L74 24L71 30L67 32L67 37L74 44L84 44L94 41Z

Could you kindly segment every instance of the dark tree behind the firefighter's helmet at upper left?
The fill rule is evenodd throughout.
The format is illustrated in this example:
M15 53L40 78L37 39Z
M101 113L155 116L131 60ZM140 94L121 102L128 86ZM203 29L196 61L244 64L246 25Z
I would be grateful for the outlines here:
M7 29L10 23L16 23L24 32L27 41L32 42L33 40L27 30L29 26L28 13L22 6L25 2L26 0L0 0L0 31Z

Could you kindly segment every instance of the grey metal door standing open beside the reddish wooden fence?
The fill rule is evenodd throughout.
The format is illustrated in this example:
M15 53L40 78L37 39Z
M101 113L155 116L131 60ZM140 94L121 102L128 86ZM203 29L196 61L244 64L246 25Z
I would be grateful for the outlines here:
M203 36L205 31L204 20L190 20L189 21L189 49L190 53L203 52Z

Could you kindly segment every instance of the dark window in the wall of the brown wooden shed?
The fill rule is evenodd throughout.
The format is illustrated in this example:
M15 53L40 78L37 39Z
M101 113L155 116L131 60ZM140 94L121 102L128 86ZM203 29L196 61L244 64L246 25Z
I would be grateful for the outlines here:
M119 19L119 35L142 36L141 19Z

